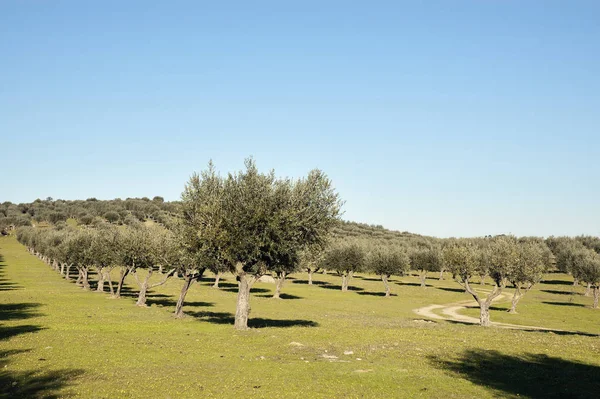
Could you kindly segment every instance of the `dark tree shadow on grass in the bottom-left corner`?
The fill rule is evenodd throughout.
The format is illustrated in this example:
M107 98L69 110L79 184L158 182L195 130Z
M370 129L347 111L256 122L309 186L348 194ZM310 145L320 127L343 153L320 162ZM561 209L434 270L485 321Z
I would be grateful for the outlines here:
M0 398L55 399L68 397L61 392L83 374L80 369L13 371L7 368L10 356L27 352L12 350L0 352Z

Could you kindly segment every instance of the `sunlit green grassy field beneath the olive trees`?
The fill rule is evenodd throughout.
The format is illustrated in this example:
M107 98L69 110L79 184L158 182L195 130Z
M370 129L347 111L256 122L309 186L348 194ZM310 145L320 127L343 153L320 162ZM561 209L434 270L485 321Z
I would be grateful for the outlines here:
M192 286L187 317L172 317L182 282L149 295L85 292L0 238L0 398L197 397L594 397L600 391L600 310L549 275L519 304L496 304L493 321L567 332L426 321L413 309L469 299L458 284L375 276L339 291L340 278L297 274L283 299L253 289L251 330L233 330L237 285ZM432 275L433 277L433 275ZM476 315L467 309L466 314Z

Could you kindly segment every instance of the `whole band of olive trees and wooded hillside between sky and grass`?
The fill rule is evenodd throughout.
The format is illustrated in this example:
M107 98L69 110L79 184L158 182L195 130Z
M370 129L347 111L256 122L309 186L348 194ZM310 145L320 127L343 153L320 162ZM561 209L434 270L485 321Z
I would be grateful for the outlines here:
M325 270L341 277L342 291L349 290L356 273L376 274L386 297L392 295L392 276L412 270L426 288L431 273L440 279L450 273L478 304L483 326L490 325L490 306L506 287L514 289L509 311L516 313L523 295L551 270L570 273L576 284L587 285L593 307L598 307L598 237L438 239L343 222L341 206L321 171L298 180L281 179L273 172L260 173L249 159L244 170L227 176L209 164L190 178L176 203L160 197L47 199L26 205L4 203L1 215L37 222L37 227L18 229L19 241L66 279L75 270L76 283L83 289L91 289L93 271L95 290L105 292L108 285L108 292L119 297L126 277L133 276L138 285L136 303L144 306L149 289L178 276L183 285L177 317L183 316L190 286L207 270L215 274L214 287L223 273L233 273L238 281L237 329L247 328L250 289L261 276L273 276L278 298L289 274L307 272L312 284L313 273ZM61 217L53 217L55 213ZM77 226L66 225L67 218L78 221ZM158 223L141 223L149 220ZM43 227L41 221L53 227ZM155 281L152 277L157 274L160 278ZM482 287L486 279L492 285Z

